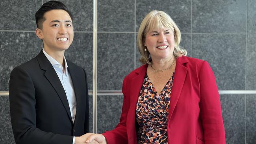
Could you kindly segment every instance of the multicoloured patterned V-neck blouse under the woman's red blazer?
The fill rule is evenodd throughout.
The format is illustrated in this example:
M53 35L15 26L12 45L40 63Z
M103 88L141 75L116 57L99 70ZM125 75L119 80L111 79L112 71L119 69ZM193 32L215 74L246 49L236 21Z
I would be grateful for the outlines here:
M173 79L174 72L158 94L145 74L135 113L138 144L168 144L167 119Z

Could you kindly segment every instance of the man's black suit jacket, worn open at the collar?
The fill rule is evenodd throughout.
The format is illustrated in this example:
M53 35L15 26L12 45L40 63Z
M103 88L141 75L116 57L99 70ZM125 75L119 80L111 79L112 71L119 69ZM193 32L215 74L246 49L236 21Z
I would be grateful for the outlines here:
M77 102L74 123L65 90L43 51L11 72L11 124L17 144L72 144L73 136L89 132L86 73L70 61L67 65Z

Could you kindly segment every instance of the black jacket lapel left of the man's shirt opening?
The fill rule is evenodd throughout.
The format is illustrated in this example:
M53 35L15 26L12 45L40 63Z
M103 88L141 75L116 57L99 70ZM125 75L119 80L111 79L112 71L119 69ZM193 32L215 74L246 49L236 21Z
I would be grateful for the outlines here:
M67 114L69 115L69 119L72 122L70 108L69 108L69 102L67 100L67 96L65 93L65 90L63 89L63 86L61 84L61 81L59 80L58 75L56 74L56 71L54 70L52 64L48 59L46 58L45 54L41 50L41 52L36 56L38 63L40 65L40 68L45 70L45 77L48 79L52 87L56 90L59 98L61 99L61 102L63 103L63 106L65 107Z

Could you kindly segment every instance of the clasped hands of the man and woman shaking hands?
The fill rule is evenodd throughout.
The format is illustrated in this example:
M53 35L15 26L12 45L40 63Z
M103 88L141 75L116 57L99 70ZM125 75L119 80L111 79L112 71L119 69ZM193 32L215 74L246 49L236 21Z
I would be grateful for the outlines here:
M75 144L107 144L107 140L102 134L86 133L76 137Z

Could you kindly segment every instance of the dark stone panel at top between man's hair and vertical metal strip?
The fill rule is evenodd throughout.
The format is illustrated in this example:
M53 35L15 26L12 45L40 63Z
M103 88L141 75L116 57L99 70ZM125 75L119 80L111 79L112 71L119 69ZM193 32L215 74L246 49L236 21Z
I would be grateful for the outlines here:
M50 0L43 0L48 2ZM93 31L93 0L60 0L73 16L74 31Z

